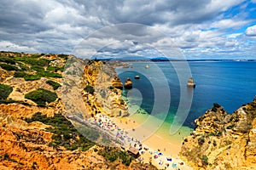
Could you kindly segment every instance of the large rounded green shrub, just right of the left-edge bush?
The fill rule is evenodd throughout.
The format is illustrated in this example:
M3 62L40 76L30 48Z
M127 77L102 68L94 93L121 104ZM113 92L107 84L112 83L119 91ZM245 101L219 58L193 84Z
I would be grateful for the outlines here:
M38 88L28 94L25 95L26 99L31 99L38 105L44 106L46 102L50 103L57 99L57 94L54 92L50 92L49 90L45 90L44 88Z

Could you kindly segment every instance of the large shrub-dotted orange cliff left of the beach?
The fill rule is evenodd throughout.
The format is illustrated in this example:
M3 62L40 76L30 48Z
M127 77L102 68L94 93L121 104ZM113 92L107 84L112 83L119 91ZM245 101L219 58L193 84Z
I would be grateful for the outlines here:
M119 106L125 113L121 91L110 89L112 77L102 72L108 66L95 66L90 72L83 59L65 54L0 53L0 169L154 169L119 148L96 145L67 119L78 105L89 115L113 104L116 112L109 114ZM105 98L102 87L110 90Z

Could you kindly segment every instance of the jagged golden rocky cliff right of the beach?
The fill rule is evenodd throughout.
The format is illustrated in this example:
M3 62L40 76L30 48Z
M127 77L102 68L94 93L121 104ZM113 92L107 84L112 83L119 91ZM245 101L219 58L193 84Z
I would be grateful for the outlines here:
M195 169L256 168L255 100L233 114L214 104L195 123L195 131L183 139L184 161Z

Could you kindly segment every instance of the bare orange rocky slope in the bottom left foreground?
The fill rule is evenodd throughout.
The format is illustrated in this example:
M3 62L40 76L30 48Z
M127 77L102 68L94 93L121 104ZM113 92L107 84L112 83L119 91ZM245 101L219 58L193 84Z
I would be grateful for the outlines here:
M47 145L52 133L38 129L0 127L0 133L0 169L154 169L136 162L127 167L120 160L107 161L95 151L98 146L87 151L55 150Z

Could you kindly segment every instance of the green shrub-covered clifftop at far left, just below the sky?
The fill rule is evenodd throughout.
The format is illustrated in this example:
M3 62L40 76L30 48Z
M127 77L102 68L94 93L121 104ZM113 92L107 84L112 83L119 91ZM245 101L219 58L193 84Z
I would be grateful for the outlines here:
M23 77L26 81L39 80L41 77L61 78L58 71L63 71L63 65L51 65L56 59L50 59L50 54L19 54L1 52L0 67L6 71L15 71L14 77ZM54 55L67 61L68 55ZM36 72L36 73L35 73Z

